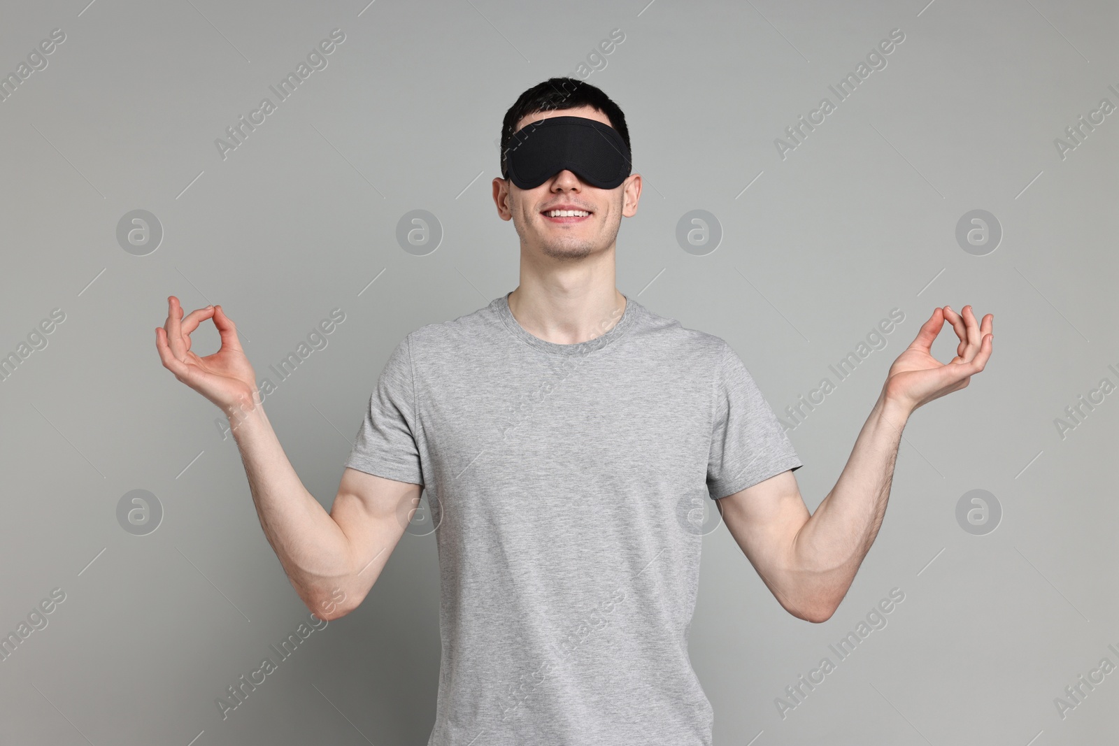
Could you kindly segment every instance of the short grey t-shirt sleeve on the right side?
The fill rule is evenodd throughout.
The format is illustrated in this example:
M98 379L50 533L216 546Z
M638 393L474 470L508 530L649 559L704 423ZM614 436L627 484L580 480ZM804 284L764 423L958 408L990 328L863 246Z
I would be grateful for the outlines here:
M725 344L725 343L724 343ZM742 359L725 344L714 380L707 490L715 500L803 464Z

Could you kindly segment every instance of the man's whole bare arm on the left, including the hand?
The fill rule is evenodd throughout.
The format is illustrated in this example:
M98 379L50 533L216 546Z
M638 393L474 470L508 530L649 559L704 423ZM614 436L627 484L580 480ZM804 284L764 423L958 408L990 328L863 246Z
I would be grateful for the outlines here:
M348 614L393 554L420 503L421 485L347 469L327 513L299 480L264 414L233 319L220 305L184 315L175 295L167 303L167 322L156 328L163 367L229 418L264 536L300 598L320 618ZM190 333L206 319L213 319L222 347L199 357L190 350Z

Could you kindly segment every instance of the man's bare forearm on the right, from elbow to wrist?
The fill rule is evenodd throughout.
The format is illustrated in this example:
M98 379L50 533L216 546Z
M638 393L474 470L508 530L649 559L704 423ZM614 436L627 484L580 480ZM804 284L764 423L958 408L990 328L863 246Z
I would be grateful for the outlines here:
M792 541L798 595L834 611L882 526L910 410L878 397L835 487ZM830 613L830 612L829 612Z

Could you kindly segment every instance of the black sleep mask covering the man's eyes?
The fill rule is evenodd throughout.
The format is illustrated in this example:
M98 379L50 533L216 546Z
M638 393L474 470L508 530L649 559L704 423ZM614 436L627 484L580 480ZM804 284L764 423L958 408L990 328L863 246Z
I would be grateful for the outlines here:
M630 174L630 149L609 124L549 116L513 133L506 168L520 189L538 187L564 169L593 187L613 189Z

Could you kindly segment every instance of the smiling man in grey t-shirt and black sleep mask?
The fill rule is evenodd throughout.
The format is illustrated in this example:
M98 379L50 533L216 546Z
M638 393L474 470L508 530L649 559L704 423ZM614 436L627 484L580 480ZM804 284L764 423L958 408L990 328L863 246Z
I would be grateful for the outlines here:
M229 416L261 525L323 618L361 603L426 488L442 593L430 746L709 745L687 652L696 506L717 501L790 614L826 621L877 533L910 413L990 356L991 314L980 327L970 306L935 309L809 514L801 462L735 351L615 289L619 225L641 196L630 171L624 116L600 89L553 78L521 94L493 179L520 284L401 341L329 514L284 455L222 308L182 318L171 296L156 330L163 365ZM210 318L222 348L198 358L189 334ZM946 320L960 343L941 365L930 347Z

